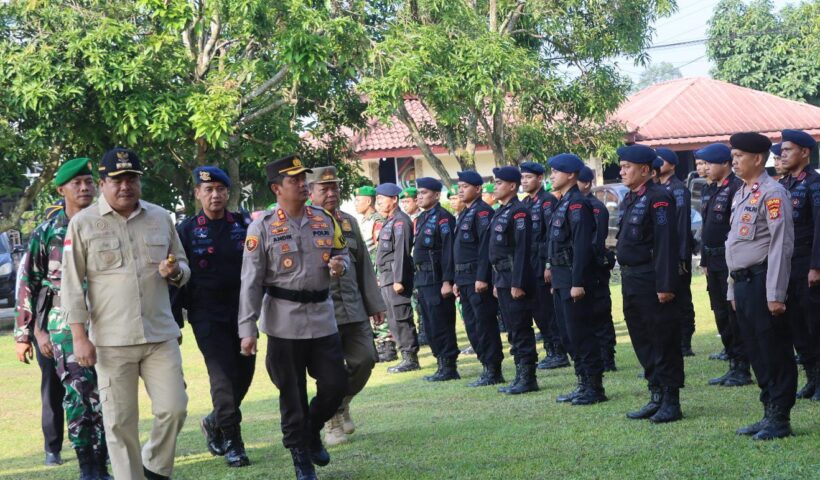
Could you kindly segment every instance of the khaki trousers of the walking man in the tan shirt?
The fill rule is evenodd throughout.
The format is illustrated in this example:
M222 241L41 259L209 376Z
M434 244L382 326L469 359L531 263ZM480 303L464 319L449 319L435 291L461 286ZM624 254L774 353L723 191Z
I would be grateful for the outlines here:
M142 467L165 476L174 468L177 434L188 395L176 339L125 347L97 347L97 376L108 455L117 480L142 480ZM138 379L151 398L154 425L140 455Z

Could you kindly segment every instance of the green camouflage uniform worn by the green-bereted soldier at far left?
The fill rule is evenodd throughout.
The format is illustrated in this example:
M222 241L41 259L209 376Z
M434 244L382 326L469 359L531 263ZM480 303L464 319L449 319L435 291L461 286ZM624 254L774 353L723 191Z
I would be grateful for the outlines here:
M74 358L71 327L59 306L63 240L68 217L59 210L40 224L31 235L20 282L21 305L15 337L28 335L34 312L47 308L47 330L54 350L57 375L65 387L63 398L68 438L75 449L105 446L102 408L97 391L97 374L93 368L81 367ZM45 300L45 291L53 294ZM41 326L42 328L43 326Z

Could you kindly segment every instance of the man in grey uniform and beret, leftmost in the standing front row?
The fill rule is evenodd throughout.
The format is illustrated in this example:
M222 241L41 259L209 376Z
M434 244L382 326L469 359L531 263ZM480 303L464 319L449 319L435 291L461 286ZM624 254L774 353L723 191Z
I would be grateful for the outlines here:
M387 304L390 333L399 344L401 362L387 369L388 373L418 370L419 337L413 321L410 298L413 292L413 222L399 209L401 188L395 183L376 187L376 209L385 220L376 246L376 268L382 298Z

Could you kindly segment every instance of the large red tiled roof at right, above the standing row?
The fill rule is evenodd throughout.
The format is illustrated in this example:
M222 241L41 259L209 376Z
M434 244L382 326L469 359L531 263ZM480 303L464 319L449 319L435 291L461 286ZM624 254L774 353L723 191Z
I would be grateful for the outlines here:
M796 128L820 137L820 107L709 78L647 87L629 97L613 119L626 124L630 141L675 150L728 142L737 132L777 140L781 130Z

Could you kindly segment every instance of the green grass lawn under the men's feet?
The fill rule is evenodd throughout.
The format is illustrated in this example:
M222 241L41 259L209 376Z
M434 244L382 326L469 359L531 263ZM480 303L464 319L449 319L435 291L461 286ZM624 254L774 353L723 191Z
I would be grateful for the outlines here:
M758 443L734 430L761 416L756 386L709 387L727 364L707 359L720 350L708 307L705 279L695 278L697 356L686 359L687 388L681 393L684 420L669 425L627 420L624 412L647 399L636 378L638 363L622 320L620 292L613 288L618 332L618 372L604 380L609 402L572 407L555 397L573 387L571 369L539 372L541 391L508 397L494 387L465 386L480 372L476 358L459 359L463 380L428 384L435 360L422 350L419 372L399 376L378 364L368 387L353 402L357 432L330 449L323 479L552 479L552 478L820 478L820 404L798 402L792 412L797 434ZM291 479L289 453L282 447L277 394L260 355L256 381L243 406L244 438L252 465L228 469L207 453L198 421L210 409L208 378L190 330L183 345L189 417L179 437L176 479ZM459 344L467 345L463 328ZM263 342L264 343L264 342ZM66 441L59 468L42 466L39 372L13 355L13 338L0 337L0 479L77 477ZM261 348L264 354L264 347ZM512 362L504 362L513 376ZM801 385L804 376L801 372ZM143 439L150 426L150 403L140 397Z

